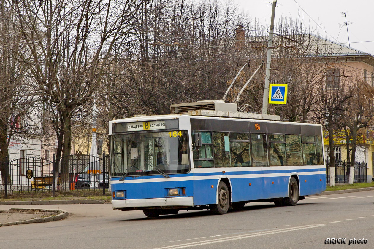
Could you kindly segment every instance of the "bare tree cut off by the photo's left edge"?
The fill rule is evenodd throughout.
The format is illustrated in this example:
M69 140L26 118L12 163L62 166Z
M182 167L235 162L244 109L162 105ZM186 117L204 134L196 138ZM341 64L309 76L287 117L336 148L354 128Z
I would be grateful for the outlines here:
M18 16L12 12L14 1L0 1L0 171L2 183L8 178L5 158L14 137L31 138L40 133L32 122L37 113L31 110L35 98L27 68L16 59L16 53L27 53L19 38ZM31 116L30 116L31 115Z

